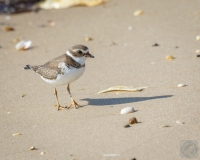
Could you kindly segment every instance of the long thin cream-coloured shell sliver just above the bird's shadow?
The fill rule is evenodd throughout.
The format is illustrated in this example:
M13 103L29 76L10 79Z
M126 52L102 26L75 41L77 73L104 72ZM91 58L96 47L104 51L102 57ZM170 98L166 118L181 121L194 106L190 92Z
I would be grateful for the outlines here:
M145 86L145 87L135 88L135 87L132 87L132 86L114 86L114 87L110 87L108 89L105 89L103 91L99 91L98 94L106 93L106 92L113 92L113 91L138 92L138 91L142 91L145 88L148 88L148 87Z

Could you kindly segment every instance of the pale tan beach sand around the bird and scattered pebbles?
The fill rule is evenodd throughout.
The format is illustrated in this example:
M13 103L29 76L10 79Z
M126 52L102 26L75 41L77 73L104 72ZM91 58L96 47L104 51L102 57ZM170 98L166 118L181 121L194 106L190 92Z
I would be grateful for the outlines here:
M181 141L200 143L199 6L196 0L110 0L10 20L0 15L0 159L182 159ZM138 9L144 14L135 17ZM5 32L5 25L15 31ZM86 42L85 34L94 40ZM33 47L16 51L14 38L30 39ZM160 46L152 47L155 43ZM84 107L58 112L53 86L22 67L44 64L75 44L87 45L95 56L71 84ZM167 61L167 55L176 59ZM179 83L188 86L177 88ZM115 85L149 88L97 94ZM58 94L62 105L70 103L65 86ZM120 115L127 106L137 112ZM124 128L131 117L141 123ZM30 151L31 146L37 150Z

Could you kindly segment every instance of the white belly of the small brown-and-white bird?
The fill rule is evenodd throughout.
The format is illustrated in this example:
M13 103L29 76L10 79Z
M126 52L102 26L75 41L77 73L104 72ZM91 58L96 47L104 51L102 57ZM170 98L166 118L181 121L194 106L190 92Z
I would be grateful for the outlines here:
M66 85L75 81L76 79L78 79L80 76L83 75L84 71L85 71L85 67L82 67L79 69L76 69L76 68L66 69L64 74L60 74L57 76L56 80L49 80L44 77L41 77L41 78L50 84L60 86L60 85Z

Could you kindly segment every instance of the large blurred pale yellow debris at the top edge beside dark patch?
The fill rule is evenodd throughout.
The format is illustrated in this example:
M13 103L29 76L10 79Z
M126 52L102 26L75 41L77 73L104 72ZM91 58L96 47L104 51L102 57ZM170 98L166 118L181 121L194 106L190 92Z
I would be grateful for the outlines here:
M73 6L93 7L106 3L107 1L108 0L46 0L40 3L39 6L43 9L61 9Z

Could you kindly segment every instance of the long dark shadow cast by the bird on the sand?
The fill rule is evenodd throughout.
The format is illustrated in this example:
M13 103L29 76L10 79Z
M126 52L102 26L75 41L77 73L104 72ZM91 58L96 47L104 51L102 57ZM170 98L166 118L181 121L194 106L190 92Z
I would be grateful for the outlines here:
M88 105L106 106L106 105L117 105L117 104L126 104L139 101L147 101L160 98L170 98L172 96L173 95L163 95L163 96L153 96L153 97L121 97L121 98L93 98L93 99L85 98L81 100L87 101Z

